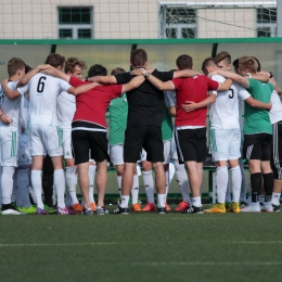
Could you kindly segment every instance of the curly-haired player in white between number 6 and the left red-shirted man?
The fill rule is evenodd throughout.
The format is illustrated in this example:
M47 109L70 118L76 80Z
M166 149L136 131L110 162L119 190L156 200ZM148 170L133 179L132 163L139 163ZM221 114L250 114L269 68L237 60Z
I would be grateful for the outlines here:
M86 63L77 57L68 57L65 62L65 73L79 79L82 78L82 69ZM76 98L63 91L57 97L57 119L63 131L63 153L65 159L65 180L66 180L66 205L77 213L82 211L76 195L77 171L72 153L72 121L76 111Z

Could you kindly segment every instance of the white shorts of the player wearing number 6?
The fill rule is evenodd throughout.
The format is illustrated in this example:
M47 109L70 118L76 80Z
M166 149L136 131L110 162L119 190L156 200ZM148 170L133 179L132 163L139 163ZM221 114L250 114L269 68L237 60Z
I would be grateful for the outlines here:
M30 126L29 142L31 156L63 155L63 134L60 127L49 125Z

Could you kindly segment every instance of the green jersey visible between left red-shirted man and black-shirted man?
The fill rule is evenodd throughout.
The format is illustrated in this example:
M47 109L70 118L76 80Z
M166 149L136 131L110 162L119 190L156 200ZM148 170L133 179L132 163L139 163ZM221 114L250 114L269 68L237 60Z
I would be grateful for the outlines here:
M121 98L111 101L110 113L110 145L123 144L125 142L125 130L127 123L128 104L126 93Z

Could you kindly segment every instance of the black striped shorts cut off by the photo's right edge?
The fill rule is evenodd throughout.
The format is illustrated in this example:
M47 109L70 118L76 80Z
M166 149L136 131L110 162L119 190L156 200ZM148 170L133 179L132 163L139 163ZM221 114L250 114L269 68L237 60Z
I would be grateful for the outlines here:
M282 121L272 125L271 167L274 179L282 179Z

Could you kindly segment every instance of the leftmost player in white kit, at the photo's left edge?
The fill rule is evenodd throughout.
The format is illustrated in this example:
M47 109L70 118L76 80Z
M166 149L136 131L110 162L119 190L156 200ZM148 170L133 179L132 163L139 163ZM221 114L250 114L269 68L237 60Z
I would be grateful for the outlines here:
M25 75L25 63L17 57L8 62L9 80L2 82L0 89L1 123L0 123L0 151L1 151L1 188L2 215L21 215L11 205L14 185L14 172L17 167L18 134L21 133L21 101L22 95L11 97L5 90L15 90L17 81ZM23 93L24 94L24 93Z

